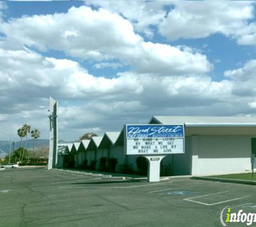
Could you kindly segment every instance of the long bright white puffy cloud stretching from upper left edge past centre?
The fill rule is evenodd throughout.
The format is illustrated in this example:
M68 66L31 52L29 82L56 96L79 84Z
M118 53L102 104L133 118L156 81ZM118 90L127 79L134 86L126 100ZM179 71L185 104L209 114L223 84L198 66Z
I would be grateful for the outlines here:
M117 59L139 73L204 74L211 69L205 55L189 48L143 41L128 20L105 9L81 6L67 13L24 16L2 23L0 30L8 39L41 51L57 49L77 58L103 62ZM95 67L104 66L99 64Z

